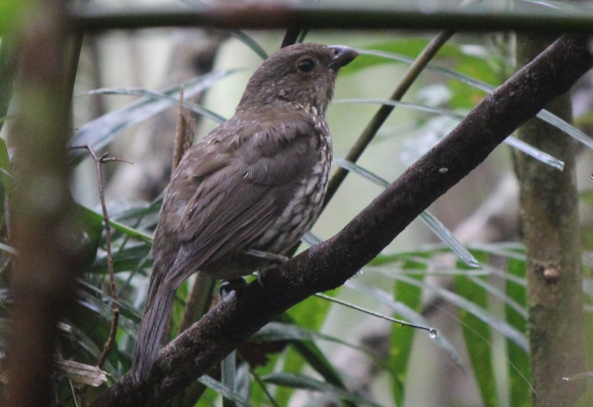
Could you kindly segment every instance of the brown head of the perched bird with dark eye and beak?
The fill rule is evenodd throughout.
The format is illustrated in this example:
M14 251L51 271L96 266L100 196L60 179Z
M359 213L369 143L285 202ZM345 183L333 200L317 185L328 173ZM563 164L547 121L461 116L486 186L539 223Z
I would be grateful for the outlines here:
M294 44L270 56L251 76L237 111L254 106L312 106L324 115L333 96L337 71L356 58L340 45Z

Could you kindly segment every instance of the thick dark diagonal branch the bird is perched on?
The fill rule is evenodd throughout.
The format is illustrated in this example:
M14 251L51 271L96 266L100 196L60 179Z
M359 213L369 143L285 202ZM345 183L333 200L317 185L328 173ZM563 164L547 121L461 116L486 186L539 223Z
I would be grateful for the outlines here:
M423 209L593 66L585 36L563 36L476 106L342 231L233 292L161 351L149 379L125 376L93 403L162 405L275 316L315 292L342 285Z

